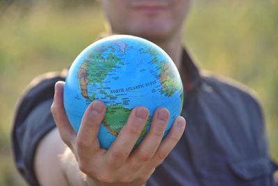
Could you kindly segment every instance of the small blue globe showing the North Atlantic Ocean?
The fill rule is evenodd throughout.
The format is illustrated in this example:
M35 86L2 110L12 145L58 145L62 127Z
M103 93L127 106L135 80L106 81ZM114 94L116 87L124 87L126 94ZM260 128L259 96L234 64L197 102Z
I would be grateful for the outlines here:
M92 43L70 67L65 80L64 107L76 133L85 109L93 100L106 104L98 133L100 147L105 149L116 139L133 107L149 109L138 146L158 107L170 112L165 137L181 114L183 86L177 67L163 49L143 38L116 35Z

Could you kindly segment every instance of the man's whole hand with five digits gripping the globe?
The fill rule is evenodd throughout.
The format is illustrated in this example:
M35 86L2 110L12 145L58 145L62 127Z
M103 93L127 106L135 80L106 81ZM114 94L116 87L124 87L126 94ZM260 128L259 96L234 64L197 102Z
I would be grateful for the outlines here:
M72 129L63 107L64 82L56 83L54 103L51 112L56 121L61 139L72 150L85 173L88 185L143 185L176 146L183 134L186 122L179 116L174 121L165 139L163 133L169 119L169 111L156 109L151 129L141 144L133 150L149 111L145 107L135 107L126 125L108 150L99 147L97 134L106 108L103 102L93 101L85 111L79 133Z

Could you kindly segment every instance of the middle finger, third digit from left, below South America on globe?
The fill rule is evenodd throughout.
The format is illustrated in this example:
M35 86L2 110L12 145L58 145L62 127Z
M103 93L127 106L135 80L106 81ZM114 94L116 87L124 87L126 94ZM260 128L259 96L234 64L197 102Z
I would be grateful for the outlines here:
M148 116L149 111L145 107L136 107L131 111L126 125L122 127L117 139L108 149L108 164L114 167L123 164L136 144L142 129L145 127Z

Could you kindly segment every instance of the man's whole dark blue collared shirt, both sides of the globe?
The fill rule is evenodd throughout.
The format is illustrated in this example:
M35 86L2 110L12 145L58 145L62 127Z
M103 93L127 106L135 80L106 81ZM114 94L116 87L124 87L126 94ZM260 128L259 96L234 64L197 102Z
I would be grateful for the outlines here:
M185 51L182 61L186 132L146 185L275 185L272 174L277 167L270 161L261 107L252 92L199 72ZM15 114L15 163L30 185L38 185L33 170L38 142L56 127L50 112L54 84L64 78L35 79Z

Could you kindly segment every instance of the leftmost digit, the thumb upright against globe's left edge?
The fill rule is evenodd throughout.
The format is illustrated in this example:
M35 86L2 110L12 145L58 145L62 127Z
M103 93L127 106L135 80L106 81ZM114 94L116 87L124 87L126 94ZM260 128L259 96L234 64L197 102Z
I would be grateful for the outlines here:
M54 102L51 105L51 113L58 128L60 138L65 142L65 144L67 144L67 146L69 146L69 148L72 149L72 144L76 138L76 133L67 119L67 114L65 114L63 104L64 86L65 82L59 81L55 84Z

